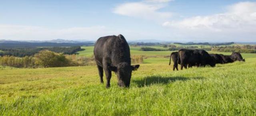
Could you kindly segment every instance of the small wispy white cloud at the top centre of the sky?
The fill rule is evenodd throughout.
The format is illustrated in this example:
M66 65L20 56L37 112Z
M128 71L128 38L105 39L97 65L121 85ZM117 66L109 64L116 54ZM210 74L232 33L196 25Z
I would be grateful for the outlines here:
M136 18L144 18L148 20L166 20L172 16L171 12L160 12L166 4L171 0L146 0L142 2L128 2L120 4L114 8L114 13L123 16L130 16Z

